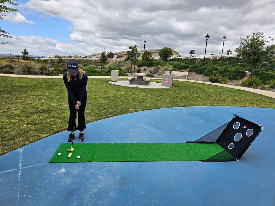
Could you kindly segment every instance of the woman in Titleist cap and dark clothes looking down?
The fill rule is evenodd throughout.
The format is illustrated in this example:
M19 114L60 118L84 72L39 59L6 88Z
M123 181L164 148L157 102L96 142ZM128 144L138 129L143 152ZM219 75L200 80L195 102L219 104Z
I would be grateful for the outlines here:
M67 72L63 75L63 81L68 90L68 103L70 109L70 117L68 123L68 131L70 135L68 142L73 141L75 138L75 130L79 130L79 141L84 141L83 130L86 129L85 124L85 107L87 102L86 85L88 75L85 71L78 68L78 63L75 60L67 62ZM76 128L75 115L78 109L78 124Z

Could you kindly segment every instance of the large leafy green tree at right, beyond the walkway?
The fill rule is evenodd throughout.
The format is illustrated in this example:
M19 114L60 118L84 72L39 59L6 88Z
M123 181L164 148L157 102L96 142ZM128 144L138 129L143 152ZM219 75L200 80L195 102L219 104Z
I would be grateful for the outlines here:
M240 38L241 44L235 49L235 52L237 52L239 57L243 58L244 62L252 65L252 76L254 75L255 66L262 63L268 54L265 44L273 40L270 38L271 37L265 38L263 32L252 32L252 35L247 35L246 38Z

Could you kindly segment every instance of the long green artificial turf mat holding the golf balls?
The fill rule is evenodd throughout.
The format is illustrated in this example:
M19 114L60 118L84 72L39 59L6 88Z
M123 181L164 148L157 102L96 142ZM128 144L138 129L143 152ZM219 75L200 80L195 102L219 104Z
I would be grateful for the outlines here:
M219 144L196 143L62 143L50 162L201 161L224 151ZM59 156L58 153L61 153ZM72 153L71 157L68 154ZM80 156L80 158L77 158ZM225 156L226 160L234 157Z

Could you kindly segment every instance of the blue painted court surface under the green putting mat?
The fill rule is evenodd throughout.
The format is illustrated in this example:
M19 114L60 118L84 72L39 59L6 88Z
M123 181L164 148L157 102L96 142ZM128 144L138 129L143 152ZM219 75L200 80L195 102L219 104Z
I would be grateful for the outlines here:
M48 163L63 131L0 156L0 205L275 204L275 109L173 107L86 124L74 143L185 143L234 115L264 129L240 161Z

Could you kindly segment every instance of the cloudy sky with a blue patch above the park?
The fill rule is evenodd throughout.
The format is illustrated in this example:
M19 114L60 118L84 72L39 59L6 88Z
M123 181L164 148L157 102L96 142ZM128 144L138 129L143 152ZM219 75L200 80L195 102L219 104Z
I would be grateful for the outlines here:
M0 38L0 53L91 55L169 47L204 54L240 45L240 37L263 32L275 40L274 0L17 0L18 12L0 20L13 38ZM9 5L10 6L10 5ZM10 6L11 7L11 6ZM275 44L271 41L268 45Z

